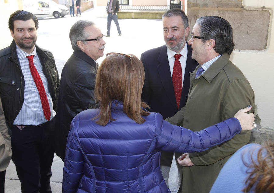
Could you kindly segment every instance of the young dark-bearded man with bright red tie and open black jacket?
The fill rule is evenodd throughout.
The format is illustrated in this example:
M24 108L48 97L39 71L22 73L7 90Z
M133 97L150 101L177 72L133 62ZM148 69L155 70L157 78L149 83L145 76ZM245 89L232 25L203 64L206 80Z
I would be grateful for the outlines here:
M57 68L52 53L35 44L36 16L16 11L9 18L9 29L14 39L0 51L0 94L12 132L12 161L22 192L51 192Z

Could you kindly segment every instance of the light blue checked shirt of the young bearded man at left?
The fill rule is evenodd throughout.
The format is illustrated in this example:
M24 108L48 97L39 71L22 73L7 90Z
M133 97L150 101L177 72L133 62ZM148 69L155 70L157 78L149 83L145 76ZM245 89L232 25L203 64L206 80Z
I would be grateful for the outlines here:
M18 55L19 64L25 80L25 89L24 89L24 103L19 114L17 115L16 119L13 122L13 125L39 125L39 124L45 123L47 122L47 119L44 116L40 95L35 85L35 82L33 80L33 77L30 73L29 60L28 58L26 58L26 56L34 55L33 64L42 79L45 92L47 95L47 100L51 110L50 120L55 116L56 112L53 110L53 103L52 103L52 98L49 93L49 89L47 85L47 78L45 77L43 73L43 68L38 58L36 47L34 46L34 50L32 53L27 54L25 51L21 50L16 45L16 52Z

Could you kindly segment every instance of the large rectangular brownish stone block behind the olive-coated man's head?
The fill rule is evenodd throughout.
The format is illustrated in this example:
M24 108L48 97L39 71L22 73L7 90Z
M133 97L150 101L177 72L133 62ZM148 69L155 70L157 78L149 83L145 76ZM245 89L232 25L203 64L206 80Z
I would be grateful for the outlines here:
M234 49L264 50L267 45L270 13L268 10L245 9L191 9L188 8L190 31L196 19L202 16L219 16L233 28ZM188 36L188 39L190 38Z

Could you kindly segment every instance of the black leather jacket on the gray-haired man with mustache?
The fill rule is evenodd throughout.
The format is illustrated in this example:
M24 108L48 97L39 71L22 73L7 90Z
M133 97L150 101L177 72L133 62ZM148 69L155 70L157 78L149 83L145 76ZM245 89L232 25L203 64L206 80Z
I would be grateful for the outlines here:
M55 153L62 160L72 119L81 111L97 108L94 100L96 74L97 63L81 50L73 52L62 70L55 130Z

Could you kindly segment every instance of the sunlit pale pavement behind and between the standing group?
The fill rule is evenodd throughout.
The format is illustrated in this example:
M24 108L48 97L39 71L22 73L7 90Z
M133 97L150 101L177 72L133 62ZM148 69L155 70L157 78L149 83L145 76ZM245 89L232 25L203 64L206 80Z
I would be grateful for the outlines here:
M80 19L93 21L106 35L107 18L95 17L93 8L83 12L80 18L67 15L58 19L53 17L39 19L37 45L53 53L60 76L65 62L73 52L68 37L69 30ZM140 58L142 52L164 44L163 26L160 19L118 19L118 22L122 36L118 37L116 26L112 22L111 37L104 38L106 47L104 56L97 60L99 64L108 52L135 54ZM1 46L7 47L9 44ZM51 170L52 192L59 193L62 191L63 162L56 155L54 155ZM21 191L15 165L12 161L7 168L5 178L5 192L18 193ZM177 168L174 160L171 166L169 185L171 192L177 192Z

